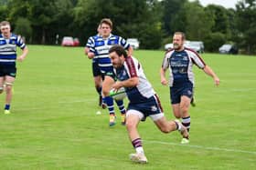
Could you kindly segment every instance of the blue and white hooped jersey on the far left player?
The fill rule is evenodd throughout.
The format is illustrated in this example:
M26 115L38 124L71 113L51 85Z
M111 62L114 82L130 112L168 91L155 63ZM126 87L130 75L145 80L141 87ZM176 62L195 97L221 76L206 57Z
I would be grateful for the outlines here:
M26 45L23 43L21 36L11 34L9 39L5 39L0 35L0 64L15 65L16 63L16 46L24 49Z

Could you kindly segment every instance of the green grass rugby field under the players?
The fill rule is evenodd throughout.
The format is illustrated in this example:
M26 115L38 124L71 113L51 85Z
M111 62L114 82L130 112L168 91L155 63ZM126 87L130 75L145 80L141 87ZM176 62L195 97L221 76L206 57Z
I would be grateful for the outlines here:
M177 132L162 134L147 119L139 132L149 164L136 165L128 159L133 147L120 116L109 127L107 111L97 105L83 48L28 47L26 61L17 65L12 114L0 114L1 169L256 169L256 57L202 55L220 86L194 67L197 106L190 109L190 144L179 145ZM165 115L174 119L169 90L159 78L164 52L134 55Z

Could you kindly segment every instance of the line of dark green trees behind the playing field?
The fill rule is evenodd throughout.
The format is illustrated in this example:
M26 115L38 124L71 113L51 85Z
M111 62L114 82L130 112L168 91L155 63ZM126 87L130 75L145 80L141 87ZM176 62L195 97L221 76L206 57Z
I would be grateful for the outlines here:
M240 0L236 9L188 0L0 0L0 20L28 44L54 45L57 35L70 35L85 45L104 17L112 19L113 34L136 37L144 49L160 49L183 31L208 52L229 43L256 53L256 0Z

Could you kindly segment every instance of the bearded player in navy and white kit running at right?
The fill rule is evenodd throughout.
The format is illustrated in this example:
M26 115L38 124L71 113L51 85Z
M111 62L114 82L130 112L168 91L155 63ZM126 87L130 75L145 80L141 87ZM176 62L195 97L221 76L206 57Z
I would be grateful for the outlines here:
M194 74L192 66L197 65L203 69L207 75L214 79L215 85L219 85L219 77L213 70L205 64L202 58L192 49L186 48L185 34L176 32L173 36L174 48L165 54L165 58L160 70L161 84L167 85L165 72L169 68L170 78L170 98L173 113L176 118L181 118L182 125L190 129L190 115L188 113L189 105L193 99ZM192 102L193 105L193 102ZM188 144L188 138L182 138L181 144Z

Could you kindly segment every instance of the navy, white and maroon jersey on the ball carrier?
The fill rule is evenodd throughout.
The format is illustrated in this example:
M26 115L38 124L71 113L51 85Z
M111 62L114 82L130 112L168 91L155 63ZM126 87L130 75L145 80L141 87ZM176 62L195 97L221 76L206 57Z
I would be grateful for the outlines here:
M134 87L125 87L125 92L130 103L143 103L148 98L155 95L152 85L148 82L144 75L142 65L133 56L125 58L122 68L114 68L114 73L118 80L124 81L132 77L139 78L139 84Z

